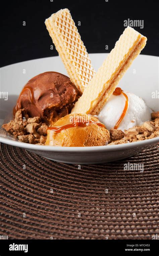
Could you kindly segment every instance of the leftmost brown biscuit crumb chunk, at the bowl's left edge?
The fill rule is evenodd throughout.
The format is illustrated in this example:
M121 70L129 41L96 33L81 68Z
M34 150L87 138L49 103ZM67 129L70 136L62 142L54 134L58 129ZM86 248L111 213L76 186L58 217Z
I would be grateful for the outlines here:
M24 127L21 124L15 123L14 121L10 121L8 124L3 124L2 128L13 134L15 137L25 135Z

